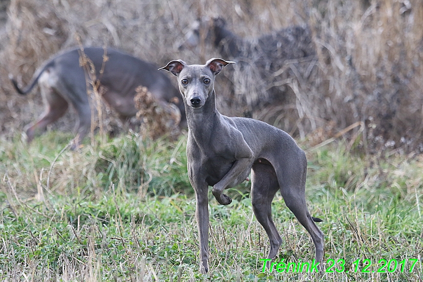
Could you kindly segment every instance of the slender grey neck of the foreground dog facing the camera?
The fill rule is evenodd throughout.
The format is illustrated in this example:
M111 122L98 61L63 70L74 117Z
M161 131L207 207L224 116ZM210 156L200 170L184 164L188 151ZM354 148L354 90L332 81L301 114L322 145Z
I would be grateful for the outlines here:
M206 104L201 108L191 108L185 102L188 132L194 137L197 143L209 143L213 128L220 123L221 114L216 108L214 89L207 98Z

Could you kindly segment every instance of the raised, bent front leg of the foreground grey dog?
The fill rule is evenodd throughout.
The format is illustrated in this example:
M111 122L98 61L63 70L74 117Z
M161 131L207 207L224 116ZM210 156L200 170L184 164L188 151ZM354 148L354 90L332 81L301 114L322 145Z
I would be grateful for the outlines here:
M225 176L223 176L223 178L219 182L214 184L211 193L219 202L219 204L229 205L230 203L232 203L232 199L228 195L223 194L223 190L228 188L229 185L232 184L240 176L240 174L245 172L248 167L251 167L251 165L252 158L242 158L235 161L231 170Z

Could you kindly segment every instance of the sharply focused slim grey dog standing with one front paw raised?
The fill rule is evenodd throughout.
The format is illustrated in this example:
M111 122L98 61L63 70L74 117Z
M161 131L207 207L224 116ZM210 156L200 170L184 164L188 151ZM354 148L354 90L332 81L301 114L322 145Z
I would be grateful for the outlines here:
M323 259L323 233L311 217L305 201L307 159L285 131L267 123L227 117L216 108L214 79L232 64L210 59L206 65L187 65L182 60L162 67L178 77L188 122L188 176L195 191L200 238L200 270L208 272L208 187L222 205L232 199L223 190L244 181L251 172L254 215L270 240L268 259L275 258L282 238L272 220L272 200L280 190L285 204L307 229L316 247L316 261Z

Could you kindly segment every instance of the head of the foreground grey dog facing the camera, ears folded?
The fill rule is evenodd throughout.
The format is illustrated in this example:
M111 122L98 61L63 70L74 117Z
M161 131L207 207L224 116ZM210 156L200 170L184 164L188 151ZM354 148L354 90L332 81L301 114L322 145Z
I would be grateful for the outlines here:
M179 90L185 105L191 108L201 108L213 92L214 78L231 61L213 58L205 65L187 65L182 60L170 61L159 69L170 71L178 77Z

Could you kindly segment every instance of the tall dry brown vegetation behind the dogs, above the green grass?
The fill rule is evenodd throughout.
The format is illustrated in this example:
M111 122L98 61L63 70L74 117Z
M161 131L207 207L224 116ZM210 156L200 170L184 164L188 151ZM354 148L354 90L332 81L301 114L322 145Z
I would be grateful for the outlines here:
M417 0L11 0L7 13L6 32L0 32L0 132L9 137L10 128L21 129L42 107L36 91L18 97L8 73L26 84L44 60L77 45L77 34L86 46L113 46L157 65L172 59L204 63L219 50L203 43L180 51L178 43L193 19L220 16L229 30L249 39L305 24L317 54L306 63L306 69L313 68L310 76L285 62L293 73L283 85L288 96L264 106L242 102L249 99L248 87L229 90L237 78L242 86L245 77L233 72L218 78L222 113L251 115L302 138L323 128L334 132L319 137L328 139L360 122L362 129L345 136L360 138L367 152L423 150L423 3ZM239 73L252 83L248 73ZM64 119L56 127L66 124Z

